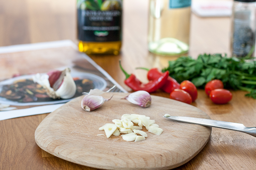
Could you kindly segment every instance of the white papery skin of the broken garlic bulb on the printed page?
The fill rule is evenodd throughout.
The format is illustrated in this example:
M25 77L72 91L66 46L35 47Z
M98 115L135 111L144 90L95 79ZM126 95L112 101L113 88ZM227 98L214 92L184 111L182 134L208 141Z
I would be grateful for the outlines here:
M59 88L56 90L50 87L49 75L47 74L38 73L35 76L33 76L33 81L43 86L44 89L46 89L46 93L50 98L69 99L69 98L72 98L76 93L76 84L70 74L69 68L66 68L62 72L63 72L63 82L61 83L61 86L59 86ZM62 80L58 80L58 81L62 81Z

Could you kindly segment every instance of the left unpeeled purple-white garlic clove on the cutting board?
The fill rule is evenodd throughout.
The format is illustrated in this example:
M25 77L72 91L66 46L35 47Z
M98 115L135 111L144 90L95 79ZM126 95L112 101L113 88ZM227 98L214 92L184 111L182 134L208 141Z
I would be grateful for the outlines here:
M112 97L113 96L111 96L111 98ZM81 101L81 107L85 111L92 111L96 108L101 107L101 105L104 104L105 101L109 101L111 98L105 99L102 96L85 95Z

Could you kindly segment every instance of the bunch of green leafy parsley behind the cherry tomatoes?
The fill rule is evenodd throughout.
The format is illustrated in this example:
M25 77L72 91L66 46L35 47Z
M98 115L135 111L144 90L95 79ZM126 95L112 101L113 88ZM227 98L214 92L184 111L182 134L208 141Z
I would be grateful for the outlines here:
M256 61L222 56L221 54L200 54L197 59L180 57L169 61L162 71L181 83L192 81L196 87L204 88L207 82L219 79L224 88L245 90L245 96L256 99Z

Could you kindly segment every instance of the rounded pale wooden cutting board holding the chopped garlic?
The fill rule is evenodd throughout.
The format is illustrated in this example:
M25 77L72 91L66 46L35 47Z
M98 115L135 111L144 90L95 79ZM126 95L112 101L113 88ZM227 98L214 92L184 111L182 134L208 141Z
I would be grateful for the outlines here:
M211 128L177 122L163 117L210 117L192 105L152 96L152 104L142 108L123 98L127 93L105 93L113 98L100 108L86 112L83 96L73 99L50 113L35 131L35 141L46 152L88 167L115 170L161 170L178 167L192 159L205 146ZM99 127L121 119L122 114L143 114L163 129L158 136L148 134L144 141L125 141L120 136L107 138Z

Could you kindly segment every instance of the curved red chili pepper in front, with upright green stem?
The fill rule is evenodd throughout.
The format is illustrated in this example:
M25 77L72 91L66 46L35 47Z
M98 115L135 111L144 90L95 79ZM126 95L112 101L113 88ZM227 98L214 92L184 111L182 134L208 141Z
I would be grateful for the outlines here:
M125 74L125 84L129 86L134 91L144 90L146 92L155 92L157 89L160 89L165 83L169 75L169 71L163 73L160 77L157 77L154 80L150 80L148 83L144 84L138 80L134 74L128 74L121 66L121 61L119 65L123 73Z

